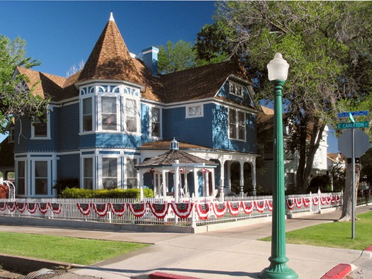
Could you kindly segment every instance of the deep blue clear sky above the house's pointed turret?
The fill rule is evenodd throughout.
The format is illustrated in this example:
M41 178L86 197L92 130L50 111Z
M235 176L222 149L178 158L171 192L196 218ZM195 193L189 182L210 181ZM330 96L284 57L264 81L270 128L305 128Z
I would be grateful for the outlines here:
M0 34L27 42L27 56L43 64L35 70L66 76L86 62L113 13L125 44L138 54L167 41L192 42L213 23L214 1L0 1ZM4 136L0 135L0 141ZM329 151L337 140L329 137Z

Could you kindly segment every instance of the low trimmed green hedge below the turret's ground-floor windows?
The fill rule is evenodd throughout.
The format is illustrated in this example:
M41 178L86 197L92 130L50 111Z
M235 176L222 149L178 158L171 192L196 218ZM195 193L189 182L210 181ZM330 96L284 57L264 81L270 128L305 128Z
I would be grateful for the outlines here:
M151 189L144 188L143 196L152 198L154 192ZM61 192L61 198L140 198L140 189L80 189L65 188Z

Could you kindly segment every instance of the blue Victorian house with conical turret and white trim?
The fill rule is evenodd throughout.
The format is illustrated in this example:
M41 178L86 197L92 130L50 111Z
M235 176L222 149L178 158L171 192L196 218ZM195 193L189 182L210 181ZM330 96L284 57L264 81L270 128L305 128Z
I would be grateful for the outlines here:
M167 152L174 137L180 150L218 164L216 188L230 191L232 166L240 188L247 177L255 186L259 110L245 70L227 61L162 76L157 52L147 48L142 61L130 54L111 15L80 72L16 68L29 78L23 86L40 81L35 93L51 97L46 123L15 124L18 197L55 197L60 178L137 188L135 165Z

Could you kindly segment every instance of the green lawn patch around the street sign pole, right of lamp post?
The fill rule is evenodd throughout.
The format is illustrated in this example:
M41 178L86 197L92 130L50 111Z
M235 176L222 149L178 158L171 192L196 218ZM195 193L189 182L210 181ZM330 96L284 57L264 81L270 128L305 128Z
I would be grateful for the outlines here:
M318 224L286 233L286 243L363 250L372 246L372 212L357 215L355 239L351 239L351 222ZM271 237L261 239L270 241Z

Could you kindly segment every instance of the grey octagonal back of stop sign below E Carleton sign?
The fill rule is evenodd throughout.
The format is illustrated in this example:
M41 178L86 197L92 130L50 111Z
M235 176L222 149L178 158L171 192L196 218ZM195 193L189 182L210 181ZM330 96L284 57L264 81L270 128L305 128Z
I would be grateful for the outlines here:
M362 130L355 129L354 138L354 157L359 158L369 149L369 137ZM344 154L346 158L353 156L353 131L346 130L338 138L339 152Z

